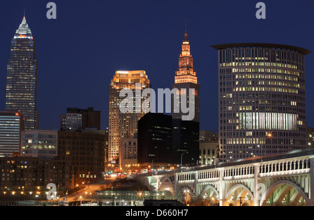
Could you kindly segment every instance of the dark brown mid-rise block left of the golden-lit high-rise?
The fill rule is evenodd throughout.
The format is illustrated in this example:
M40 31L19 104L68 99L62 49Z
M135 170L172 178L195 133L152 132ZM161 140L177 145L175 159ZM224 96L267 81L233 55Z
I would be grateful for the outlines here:
M105 131L58 132L58 157L69 162L71 187L104 178Z

